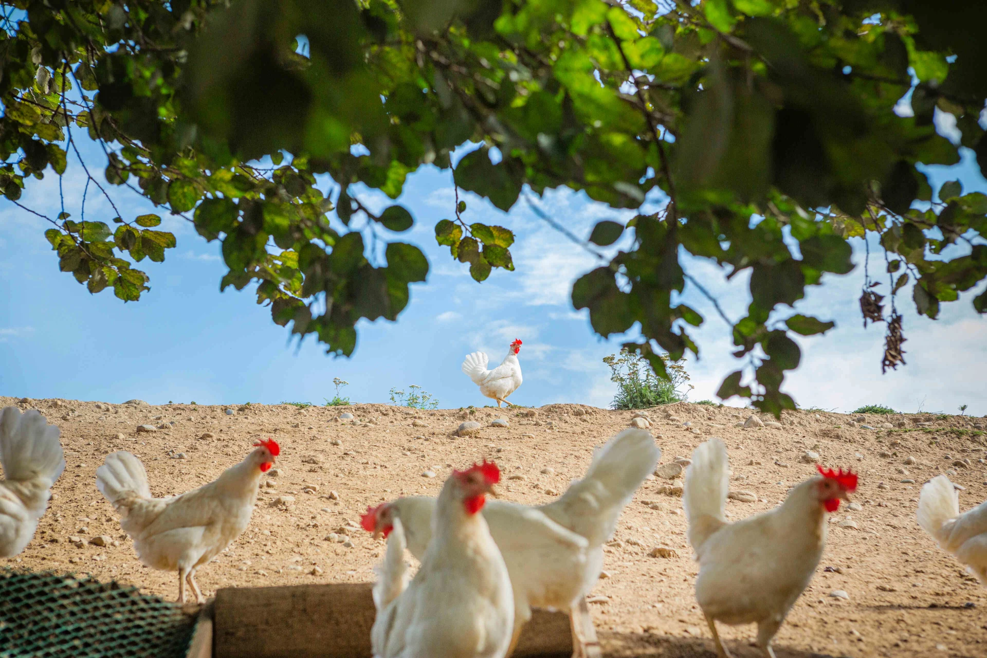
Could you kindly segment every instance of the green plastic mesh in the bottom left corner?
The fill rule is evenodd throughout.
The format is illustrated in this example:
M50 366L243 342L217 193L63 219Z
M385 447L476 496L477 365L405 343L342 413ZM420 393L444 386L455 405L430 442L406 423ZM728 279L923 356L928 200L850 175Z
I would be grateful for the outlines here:
M195 619L136 587L0 570L0 658L185 658Z

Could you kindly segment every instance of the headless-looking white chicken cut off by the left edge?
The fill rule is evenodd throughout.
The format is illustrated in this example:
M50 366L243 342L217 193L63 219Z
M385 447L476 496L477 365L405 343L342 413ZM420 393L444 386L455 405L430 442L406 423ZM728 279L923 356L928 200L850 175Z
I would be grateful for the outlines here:
M65 470L58 428L38 411L0 410L0 557L31 542L48 506L50 488Z

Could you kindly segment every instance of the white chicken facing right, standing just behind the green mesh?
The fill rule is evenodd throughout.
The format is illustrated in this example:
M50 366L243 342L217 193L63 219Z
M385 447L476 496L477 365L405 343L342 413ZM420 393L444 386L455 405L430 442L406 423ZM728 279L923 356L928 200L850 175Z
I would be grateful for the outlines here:
M141 562L179 572L179 602L186 582L198 603L204 601L195 571L240 536L250 523L261 475L281 449L266 439L240 464L218 478L178 496L152 498L147 472L128 452L107 455L96 470L96 486L120 513L120 527L133 539Z

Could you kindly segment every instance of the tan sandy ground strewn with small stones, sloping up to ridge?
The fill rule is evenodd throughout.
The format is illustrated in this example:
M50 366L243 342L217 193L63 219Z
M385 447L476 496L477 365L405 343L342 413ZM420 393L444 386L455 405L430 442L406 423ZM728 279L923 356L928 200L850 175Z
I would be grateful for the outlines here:
M0 397L0 406L17 402ZM627 427L632 417L630 411L576 404L545 406L533 418L520 415L526 409L480 408L470 417L485 425L503 417L510 427L485 427L478 436L453 438L449 433L466 411L385 404L301 409L64 400L19 406L38 408L61 428L68 467L55 483L56 496L35 540L7 561L88 572L167 598L177 595L177 576L137 561L114 509L96 489L96 469L114 450L136 454L147 468L152 492L164 496L212 480L239 462L257 439L270 436L280 444L276 475L266 478L250 527L199 570L199 585L209 596L229 586L369 581L372 565L383 554L382 542L352 530L342 531L351 546L326 539L356 525L367 505L402 494L435 495L451 467L483 458L495 460L506 475L520 475L503 481L503 497L540 504L580 477L593 447ZM226 414L227 409L234 414ZM343 412L352 413L355 421L341 421ZM961 509L987 497L983 419L869 415L865 422L878 428L873 430L854 425L854 415L798 411L786 413L778 427L742 429L735 424L749 411L738 408L683 403L648 413L663 451L662 465L691 456L710 436L724 439L731 488L758 496L757 502L727 501L733 519L776 505L791 485L812 475L814 466L801 461L806 450L818 453L827 466L860 472L855 500L863 508L842 507L831 519L819 568L776 637L779 658L987 655L987 592L915 521L919 488L933 475L949 472L966 487ZM904 426L880 428L888 420ZM165 428L138 433L141 424ZM179 453L184 458L175 459ZM916 463L906 464L909 457ZM969 466L953 465L961 459ZM543 474L547 468L554 473ZM437 476L422 475L426 471ZM658 490L670 483L661 477L645 481L621 518L616 543L606 549L606 577L590 605L606 656L714 655L693 596L698 565L686 545L681 499ZM306 485L317 490L305 490ZM275 504L280 496L294 500ZM848 514L857 528L839 526ZM98 536L109 536L110 545L88 542ZM72 537L87 543L76 546L69 543ZM655 547L672 548L675 555L651 557ZM834 590L845 591L849 600L830 597ZM721 635L735 655L758 655L748 646L753 626L721 626Z

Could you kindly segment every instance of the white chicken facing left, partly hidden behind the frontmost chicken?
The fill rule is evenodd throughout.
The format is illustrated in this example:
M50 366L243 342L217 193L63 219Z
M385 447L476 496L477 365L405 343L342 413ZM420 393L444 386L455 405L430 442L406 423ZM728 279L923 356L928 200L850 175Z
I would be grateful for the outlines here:
M603 544L660 456L649 432L627 429L599 449L586 475L551 503L487 504L484 517L514 589L512 647L531 619L532 606L569 612L593 588L603 567ZM420 560L430 546L435 505L427 496L398 498L368 508L362 525L386 537L401 519L402 542Z

